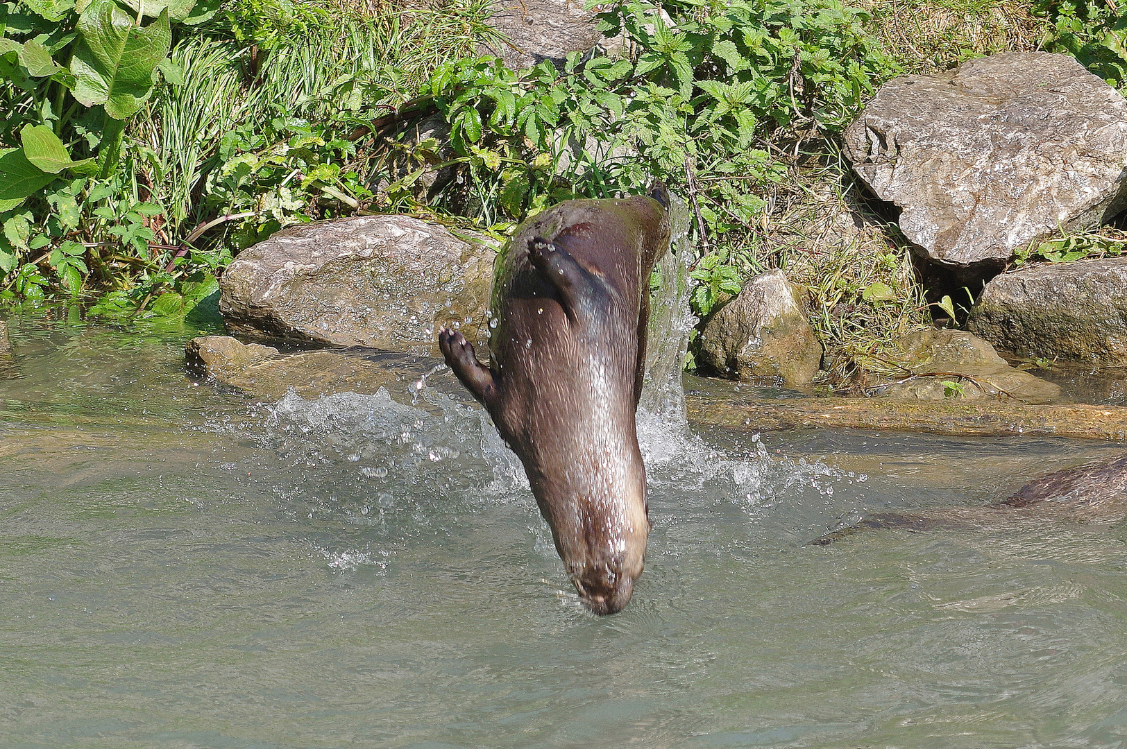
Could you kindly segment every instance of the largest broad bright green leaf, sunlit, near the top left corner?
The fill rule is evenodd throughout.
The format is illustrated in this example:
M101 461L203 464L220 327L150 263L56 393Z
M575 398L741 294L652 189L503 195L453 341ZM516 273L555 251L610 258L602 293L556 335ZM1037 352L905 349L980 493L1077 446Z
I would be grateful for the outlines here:
M88 107L105 105L110 117L125 119L152 95L153 71L168 55L168 9L140 28L114 0L92 0L78 30L71 61L74 98Z

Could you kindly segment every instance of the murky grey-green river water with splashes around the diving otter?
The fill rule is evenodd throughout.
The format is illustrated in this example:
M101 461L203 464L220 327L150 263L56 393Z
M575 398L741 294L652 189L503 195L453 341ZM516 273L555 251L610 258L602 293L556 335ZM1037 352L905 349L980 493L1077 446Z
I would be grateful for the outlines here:
M9 322L2 747L1127 743L1122 526L805 545L1115 447L644 420L647 570L596 618L449 375L256 403L183 333Z

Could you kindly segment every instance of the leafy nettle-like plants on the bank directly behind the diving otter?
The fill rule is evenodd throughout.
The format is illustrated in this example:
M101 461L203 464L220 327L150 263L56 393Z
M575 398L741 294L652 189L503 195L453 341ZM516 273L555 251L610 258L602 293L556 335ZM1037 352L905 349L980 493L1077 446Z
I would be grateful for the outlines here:
M577 195L638 193L657 178L691 197L709 243L734 256L764 193L788 173L779 145L836 132L895 72L866 12L837 0L639 0L600 19L636 59L574 54L562 71L545 62L520 77L489 57L436 70L424 93L451 127L453 157L399 146L416 166L380 204L417 207L412 184L455 166L460 179L428 205L491 225ZM709 262L713 275L725 265ZM738 286L735 270L725 273L722 283ZM710 284L698 313L728 293L721 279Z

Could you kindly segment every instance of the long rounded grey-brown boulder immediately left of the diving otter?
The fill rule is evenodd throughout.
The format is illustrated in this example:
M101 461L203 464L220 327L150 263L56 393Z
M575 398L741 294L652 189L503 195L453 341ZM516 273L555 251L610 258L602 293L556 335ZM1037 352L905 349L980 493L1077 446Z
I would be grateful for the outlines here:
M220 311L247 336L437 354L449 323L483 345L494 257L410 216L303 224L228 266Z

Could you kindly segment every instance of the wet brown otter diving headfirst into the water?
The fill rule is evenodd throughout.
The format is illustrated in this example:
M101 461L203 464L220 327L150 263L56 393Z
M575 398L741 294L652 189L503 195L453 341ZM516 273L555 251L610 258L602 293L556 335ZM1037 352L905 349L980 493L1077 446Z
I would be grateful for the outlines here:
M438 346L524 464L584 605L615 614L649 535L641 395L649 276L669 246L668 195L567 200L502 249L490 366L449 328Z

